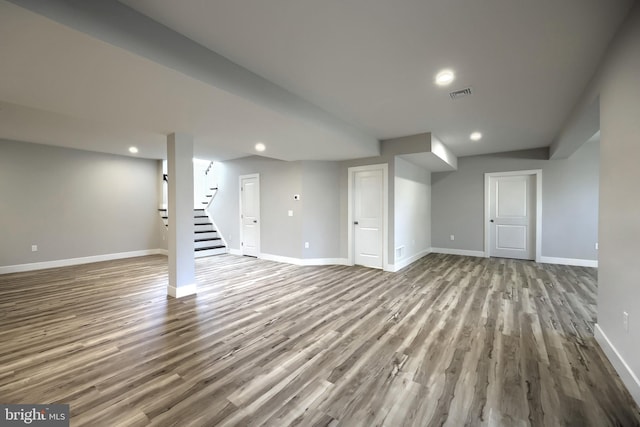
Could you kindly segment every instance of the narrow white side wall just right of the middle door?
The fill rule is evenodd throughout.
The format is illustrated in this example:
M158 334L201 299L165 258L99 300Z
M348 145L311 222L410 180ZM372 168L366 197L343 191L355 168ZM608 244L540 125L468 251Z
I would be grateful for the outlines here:
M394 182L394 266L398 268L431 247L431 174L396 157Z

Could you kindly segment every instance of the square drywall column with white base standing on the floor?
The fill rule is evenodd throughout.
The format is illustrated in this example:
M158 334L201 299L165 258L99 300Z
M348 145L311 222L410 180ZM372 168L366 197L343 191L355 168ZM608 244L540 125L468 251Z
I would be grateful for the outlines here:
M167 136L169 179L169 287L167 294L181 298L196 293L193 253L193 137Z

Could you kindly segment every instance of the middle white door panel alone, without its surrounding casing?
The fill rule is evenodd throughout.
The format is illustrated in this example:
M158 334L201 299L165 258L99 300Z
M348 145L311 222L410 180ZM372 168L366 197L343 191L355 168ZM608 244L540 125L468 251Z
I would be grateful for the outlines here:
M356 171L353 185L355 263L382 268L383 171Z

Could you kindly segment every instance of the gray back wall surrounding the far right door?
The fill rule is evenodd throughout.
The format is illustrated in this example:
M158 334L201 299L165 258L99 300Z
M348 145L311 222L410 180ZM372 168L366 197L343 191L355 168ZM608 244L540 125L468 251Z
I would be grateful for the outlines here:
M542 169L542 256L597 259L599 146L546 157L547 149L463 157L457 171L434 173L432 246L484 251L484 173Z

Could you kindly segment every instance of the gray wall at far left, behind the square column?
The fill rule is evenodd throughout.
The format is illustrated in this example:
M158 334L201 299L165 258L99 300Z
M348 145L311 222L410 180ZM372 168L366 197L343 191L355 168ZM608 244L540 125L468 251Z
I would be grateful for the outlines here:
M0 266L161 247L158 185L154 160L0 141Z

